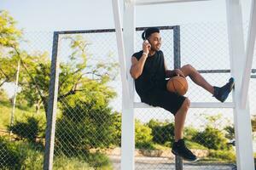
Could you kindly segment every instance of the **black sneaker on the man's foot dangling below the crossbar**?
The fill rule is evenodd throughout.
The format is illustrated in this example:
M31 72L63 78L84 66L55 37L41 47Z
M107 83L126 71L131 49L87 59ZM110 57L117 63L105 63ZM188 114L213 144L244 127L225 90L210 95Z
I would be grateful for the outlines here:
M172 154L181 156L186 161L197 161L197 157L186 147L183 139L173 143Z

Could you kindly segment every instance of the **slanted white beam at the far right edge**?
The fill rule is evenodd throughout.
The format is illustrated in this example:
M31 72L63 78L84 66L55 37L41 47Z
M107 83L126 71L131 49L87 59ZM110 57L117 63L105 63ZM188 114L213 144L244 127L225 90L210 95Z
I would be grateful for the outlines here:
M251 77L251 70L253 65L253 51L256 37L256 2L252 0L251 14L248 27L247 36L247 51L246 51L246 64L243 69L242 85L241 85L241 108L245 108L248 99L248 88Z

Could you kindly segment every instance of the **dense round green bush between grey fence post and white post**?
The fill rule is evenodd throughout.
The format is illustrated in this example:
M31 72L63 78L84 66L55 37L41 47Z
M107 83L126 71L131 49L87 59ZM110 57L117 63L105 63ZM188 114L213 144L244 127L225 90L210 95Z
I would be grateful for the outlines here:
M75 100L74 105L62 108L56 122L56 147L66 156L80 149L108 147L117 141L114 119L107 104L96 99L85 102Z

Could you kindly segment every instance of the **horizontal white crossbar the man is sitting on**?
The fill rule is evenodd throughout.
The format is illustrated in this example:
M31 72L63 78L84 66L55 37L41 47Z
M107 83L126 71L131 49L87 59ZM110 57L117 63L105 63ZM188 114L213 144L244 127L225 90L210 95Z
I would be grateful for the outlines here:
M232 102L226 103L213 103L213 102L191 102L189 108L234 108ZM154 106L147 105L142 102L134 102L134 108L154 108Z

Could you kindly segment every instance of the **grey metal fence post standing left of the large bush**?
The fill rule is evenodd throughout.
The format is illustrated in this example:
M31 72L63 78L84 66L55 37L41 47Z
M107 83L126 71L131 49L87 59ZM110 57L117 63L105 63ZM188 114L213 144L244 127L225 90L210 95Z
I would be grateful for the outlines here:
M59 60L58 53L59 33L54 32L52 58L49 81L49 103L47 109L47 127L45 132L44 170L51 170L53 166L55 144L55 120L57 111L57 97L59 86Z

